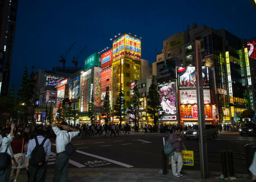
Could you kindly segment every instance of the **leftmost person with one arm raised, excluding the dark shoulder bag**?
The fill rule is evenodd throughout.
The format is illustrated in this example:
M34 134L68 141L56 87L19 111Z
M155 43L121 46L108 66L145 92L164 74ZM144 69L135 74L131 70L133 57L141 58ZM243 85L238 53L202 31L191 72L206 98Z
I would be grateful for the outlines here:
M18 163L16 162L15 158L13 157L13 152L11 149L10 143L12 142L14 136L13 131L15 128L15 124L11 124L11 130L8 128L4 129L2 131L2 137L1 137L1 143L0 143L0 152L7 152L9 154L9 157L13 160L16 167L18 166ZM2 162L2 161L0 161ZM0 182L9 182L10 178L10 172L11 172L11 160L8 161L9 164L5 168L0 168Z

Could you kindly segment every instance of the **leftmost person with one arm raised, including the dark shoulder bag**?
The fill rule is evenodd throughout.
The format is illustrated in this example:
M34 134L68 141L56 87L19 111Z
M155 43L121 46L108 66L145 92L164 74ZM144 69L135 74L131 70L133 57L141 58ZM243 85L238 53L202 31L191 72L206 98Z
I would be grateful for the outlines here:
M9 182L11 171L11 159L18 166L13 157L11 149L11 141L13 140L13 131L15 124L11 124L11 130L5 129L2 133L2 141L0 141L0 182Z

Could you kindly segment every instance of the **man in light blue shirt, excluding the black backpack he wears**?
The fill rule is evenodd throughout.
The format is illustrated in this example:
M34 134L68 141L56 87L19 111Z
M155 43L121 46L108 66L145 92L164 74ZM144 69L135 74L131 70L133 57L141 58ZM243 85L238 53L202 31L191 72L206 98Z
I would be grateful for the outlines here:
M45 132L42 127L37 128L37 141L40 145L45 140ZM29 165L29 161L31 158L31 153L33 149L36 147L36 139L31 139L27 145L27 170L29 173L29 182L34 182L35 178L37 182L44 182L46 178L46 169L47 169L47 160L51 154L51 141L46 139L44 141L44 150L46 154L46 162L41 166L31 166ZM31 161L30 161L31 162Z

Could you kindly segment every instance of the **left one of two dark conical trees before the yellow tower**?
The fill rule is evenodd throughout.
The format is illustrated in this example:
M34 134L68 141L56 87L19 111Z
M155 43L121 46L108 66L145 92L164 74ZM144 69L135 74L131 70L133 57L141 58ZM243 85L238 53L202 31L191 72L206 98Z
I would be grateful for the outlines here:
M125 117L125 99L121 88L116 104L114 105L114 110L116 111L117 118L120 120L120 124L122 124L122 117Z

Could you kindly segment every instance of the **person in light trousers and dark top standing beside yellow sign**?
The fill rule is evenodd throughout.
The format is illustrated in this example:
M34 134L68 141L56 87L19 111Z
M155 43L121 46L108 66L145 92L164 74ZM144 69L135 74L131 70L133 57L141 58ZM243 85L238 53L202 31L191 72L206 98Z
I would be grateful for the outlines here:
M171 161L172 161L172 171L173 175L175 177L181 177L183 174L181 174L182 166L183 166L183 160L181 155L181 150L187 150L185 147L185 144L183 143L183 135L180 135L180 128L176 127L175 132L171 133L169 135L168 141L174 145L174 155L172 155ZM177 163L177 165L176 165Z

